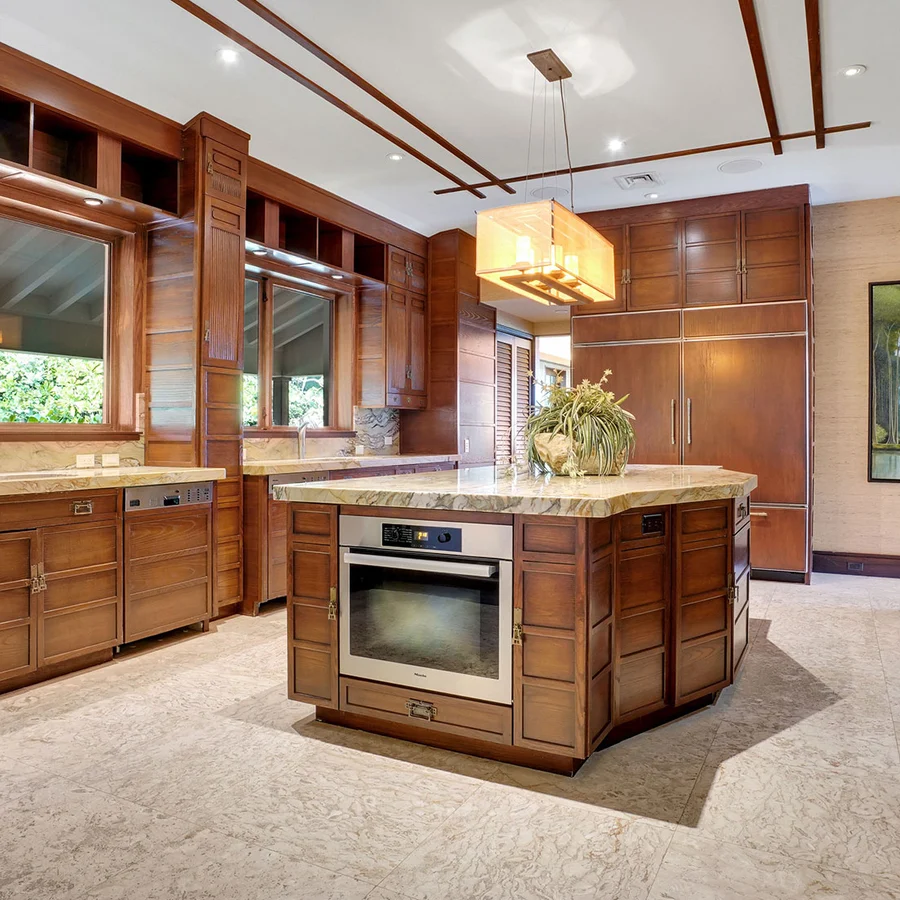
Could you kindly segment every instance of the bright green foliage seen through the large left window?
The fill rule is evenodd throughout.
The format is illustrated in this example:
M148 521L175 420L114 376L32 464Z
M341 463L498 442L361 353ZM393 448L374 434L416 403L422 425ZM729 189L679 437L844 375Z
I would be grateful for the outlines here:
M103 422L103 360L0 351L0 421Z

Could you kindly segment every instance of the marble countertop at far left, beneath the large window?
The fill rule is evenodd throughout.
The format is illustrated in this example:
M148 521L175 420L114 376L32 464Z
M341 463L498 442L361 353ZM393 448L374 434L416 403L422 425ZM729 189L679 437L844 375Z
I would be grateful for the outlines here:
M168 466L0 472L0 497L11 497L17 494L53 494L59 491L87 491L96 488L138 487L144 484L218 481L224 477L224 469L173 469Z

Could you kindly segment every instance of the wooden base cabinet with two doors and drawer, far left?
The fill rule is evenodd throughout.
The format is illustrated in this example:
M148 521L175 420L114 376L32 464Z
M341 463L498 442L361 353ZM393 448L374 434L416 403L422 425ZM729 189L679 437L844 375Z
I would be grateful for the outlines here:
M122 643L120 498L0 502L0 682Z

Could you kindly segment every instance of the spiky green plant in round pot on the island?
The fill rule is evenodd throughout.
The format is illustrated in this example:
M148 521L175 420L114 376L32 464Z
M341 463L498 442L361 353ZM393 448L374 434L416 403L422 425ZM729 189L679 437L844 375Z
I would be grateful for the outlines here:
M634 416L606 390L611 369L596 383L547 388L548 403L525 423L528 459L554 475L621 475L634 450Z

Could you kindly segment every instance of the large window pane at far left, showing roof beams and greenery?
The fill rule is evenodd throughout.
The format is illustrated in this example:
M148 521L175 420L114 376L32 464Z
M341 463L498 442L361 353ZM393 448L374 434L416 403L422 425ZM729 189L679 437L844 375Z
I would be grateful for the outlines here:
M109 245L0 218L0 422L105 421Z

